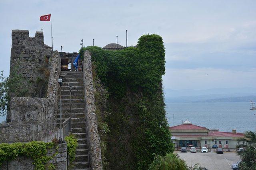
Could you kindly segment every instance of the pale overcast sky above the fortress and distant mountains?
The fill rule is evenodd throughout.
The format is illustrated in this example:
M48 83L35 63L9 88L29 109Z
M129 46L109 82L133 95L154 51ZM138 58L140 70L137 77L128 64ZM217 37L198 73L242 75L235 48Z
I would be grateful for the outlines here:
M0 70L8 76L12 29L44 31L54 50L77 52L84 45L116 42L136 45L142 34L156 33L166 48L165 89L255 87L256 1L252 0L1 0ZM208 75L207 75L208 74Z

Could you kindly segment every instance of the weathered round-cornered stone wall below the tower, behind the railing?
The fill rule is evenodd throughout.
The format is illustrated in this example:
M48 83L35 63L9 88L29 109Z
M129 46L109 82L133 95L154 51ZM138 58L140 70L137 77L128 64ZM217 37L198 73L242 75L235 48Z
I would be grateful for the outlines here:
M56 131L56 102L48 98L11 98L10 111L12 122L0 127L0 143L51 140Z

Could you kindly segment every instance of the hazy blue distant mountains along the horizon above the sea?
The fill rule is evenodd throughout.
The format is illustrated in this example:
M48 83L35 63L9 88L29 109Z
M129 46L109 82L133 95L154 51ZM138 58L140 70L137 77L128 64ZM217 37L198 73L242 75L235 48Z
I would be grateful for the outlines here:
M167 103L256 101L256 88L212 88L208 90L164 90Z

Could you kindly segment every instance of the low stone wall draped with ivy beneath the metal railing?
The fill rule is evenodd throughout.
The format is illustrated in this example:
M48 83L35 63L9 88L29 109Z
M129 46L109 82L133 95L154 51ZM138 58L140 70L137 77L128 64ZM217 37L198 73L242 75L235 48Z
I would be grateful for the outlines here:
M67 145L40 141L2 143L0 144L0 169L66 170Z

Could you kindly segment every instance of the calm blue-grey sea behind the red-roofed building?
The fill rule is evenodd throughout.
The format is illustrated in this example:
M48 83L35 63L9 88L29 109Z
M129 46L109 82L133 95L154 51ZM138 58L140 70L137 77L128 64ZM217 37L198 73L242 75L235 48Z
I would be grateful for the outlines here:
M192 124L219 131L256 131L256 110L250 103L166 103L169 126L188 119Z

